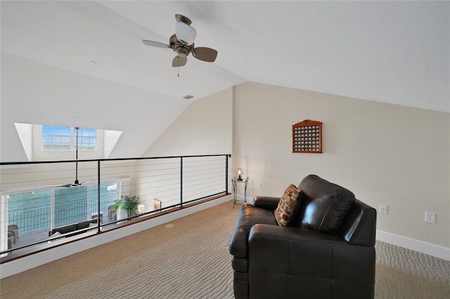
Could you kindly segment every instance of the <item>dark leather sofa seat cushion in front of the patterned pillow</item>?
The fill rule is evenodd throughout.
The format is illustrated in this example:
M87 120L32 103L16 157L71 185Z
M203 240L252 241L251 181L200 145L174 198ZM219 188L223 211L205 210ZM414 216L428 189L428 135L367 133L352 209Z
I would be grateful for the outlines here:
M231 237L229 251L238 258L245 258L248 254L248 234L255 224L276 225L274 211L265 208L255 208L251 204L240 207L236 227Z

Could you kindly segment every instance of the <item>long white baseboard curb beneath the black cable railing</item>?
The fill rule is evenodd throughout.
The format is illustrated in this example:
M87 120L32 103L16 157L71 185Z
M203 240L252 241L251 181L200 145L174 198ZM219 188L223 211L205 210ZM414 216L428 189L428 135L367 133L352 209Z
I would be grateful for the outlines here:
M136 232L148 230L151 227L155 227L157 225L162 225L164 223L173 221L177 218L181 218L181 217L190 215L192 213L202 211L205 208L211 208L212 206L216 206L218 204L223 204L226 201L231 201L232 199L233 199L233 197L231 195L227 195L227 196L221 197L219 199L214 199L212 201L206 201L202 204L190 206L188 208L182 208L179 211L167 213L165 215L162 215L162 216L150 219L150 220L138 222L134 225L122 227L118 230L113 230L111 232L106 232L104 234L98 234L91 238L81 239L81 240L75 241L73 243L64 244L63 246L53 247L46 251L41 251L39 253L27 255L23 258L18 258L17 260L11 260L9 262L2 263L0 265L0 279L4 279L5 277L9 277L13 274L18 274L20 272L30 270L34 267L39 267L40 265L44 265L46 263L53 262L53 260L65 258L66 256L69 256L69 255L72 255L75 253L79 253L81 251L85 251L89 248L94 248L96 246L106 244L110 241L115 241L117 239L127 237L130 234L135 234ZM231 205L230 205L230 207L231 207ZM44 244L42 246L42 248L44 248L46 246L51 246L51 245Z

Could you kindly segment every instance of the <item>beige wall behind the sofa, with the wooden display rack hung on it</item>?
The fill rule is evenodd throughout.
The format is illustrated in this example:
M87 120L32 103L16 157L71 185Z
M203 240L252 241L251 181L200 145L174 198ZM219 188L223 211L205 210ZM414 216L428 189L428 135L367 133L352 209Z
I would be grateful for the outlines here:
M378 230L450 247L449 113L254 83L233 101L233 170L250 176L248 197L281 196L314 173L387 204ZM292 153L292 125L304 119L323 122L323 154Z

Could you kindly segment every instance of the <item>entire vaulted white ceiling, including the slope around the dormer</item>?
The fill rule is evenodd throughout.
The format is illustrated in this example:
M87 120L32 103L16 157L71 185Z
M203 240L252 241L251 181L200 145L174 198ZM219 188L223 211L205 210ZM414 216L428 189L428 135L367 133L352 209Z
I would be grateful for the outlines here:
M450 112L448 1L1 1L0 9L2 144L11 122L82 123L124 131L113 156L139 156L189 105L184 95L247 81ZM217 49L215 62L188 55L174 68L171 49L142 43L169 44L176 13L192 20L195 46Z

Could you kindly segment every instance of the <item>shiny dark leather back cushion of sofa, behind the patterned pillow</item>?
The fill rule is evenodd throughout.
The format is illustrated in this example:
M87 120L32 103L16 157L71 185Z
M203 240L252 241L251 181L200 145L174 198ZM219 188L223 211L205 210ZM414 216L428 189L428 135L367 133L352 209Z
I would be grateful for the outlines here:
M308 175L299 188L303 199L295 226L324 233L338 232L342 219L354 203L354 194L317 175Z

